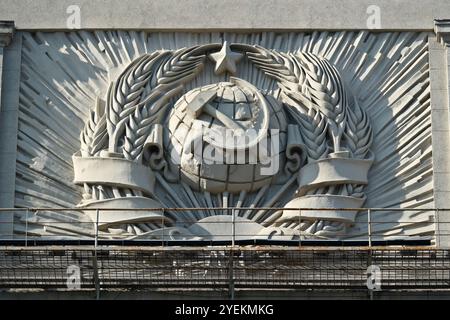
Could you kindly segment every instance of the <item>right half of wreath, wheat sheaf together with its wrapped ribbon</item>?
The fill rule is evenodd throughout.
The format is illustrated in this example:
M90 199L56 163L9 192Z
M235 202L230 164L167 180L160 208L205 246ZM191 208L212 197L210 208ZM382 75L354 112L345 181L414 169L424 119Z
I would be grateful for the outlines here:
M361 207L365 196L360 189L368 183L367 173L373 162L369 150L372 131L366 114L345 89L336 68L310 53L284 54L256 47L248 57L278 81L281 96L301 127L307 163L298 173L296 198L285 207ZM328 187L339 185L339 194L330 192ZM326 194L322 194L324 187L328 189ZM301 218L347 225L354 222L356 214L356 211L307 210ZM298 212L285 210L277 223L298 220Z

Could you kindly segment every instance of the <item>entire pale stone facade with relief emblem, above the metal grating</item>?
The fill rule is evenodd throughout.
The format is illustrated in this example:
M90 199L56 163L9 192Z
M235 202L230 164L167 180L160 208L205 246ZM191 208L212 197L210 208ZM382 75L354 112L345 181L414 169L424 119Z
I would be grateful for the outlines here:
M270 239L367 238L366 211L291 209L394 208L373 212L374 239L450 246L450 212L434 210L450 208L450 5L376 2L281 1L278 16L272 3L236 14L191 0L186 19L167 2L137 1L120 17L83 2L78 30L69 2L49 20L46 1L29 4L42 9L33 17L5 1L0 19L15 27L0 27L1 206L101 207L102 237L186 240L230 222L215 207L238 208L252 237ZM361 15L333 19L350 8ZM381 24L367 30L376 8ZM247 10L260 14L240 17ZM250 141L230 147L205 127ZM198 136L201 154L225 163L196 159ZM249 160L263 140L277 146L269 174L261 154ZM227 163L219 149L246 160ZM210 210L158 210L177 207ZM80 238L95 220L5 212L1 233L21 237L26 224L33 236Z

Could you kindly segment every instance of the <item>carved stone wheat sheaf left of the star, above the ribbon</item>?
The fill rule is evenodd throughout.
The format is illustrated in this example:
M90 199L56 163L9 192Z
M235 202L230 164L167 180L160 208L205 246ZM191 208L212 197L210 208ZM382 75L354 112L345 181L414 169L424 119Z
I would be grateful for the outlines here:
M97 155L107 148L113 153L122 151L126 159L139 160L159 112L184 82L200 72L205 56L195 55L196 49L157 51L128 65L109 86L104 111L90 112L80 135L82 155Z

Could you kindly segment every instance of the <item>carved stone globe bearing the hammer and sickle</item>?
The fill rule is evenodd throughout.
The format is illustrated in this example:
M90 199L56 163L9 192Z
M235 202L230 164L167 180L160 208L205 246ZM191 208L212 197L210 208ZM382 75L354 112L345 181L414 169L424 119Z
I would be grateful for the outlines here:
M283 168L287 125L281 104L234 80L187 92L167 117L164 145L171 172L195 190L252 192L270 184ZM205 137L211 132L226 136L226 145ZM246 140L239 140L243 136ZM228 145L233 137L245 144ZM261 153L261 146L268 151Z

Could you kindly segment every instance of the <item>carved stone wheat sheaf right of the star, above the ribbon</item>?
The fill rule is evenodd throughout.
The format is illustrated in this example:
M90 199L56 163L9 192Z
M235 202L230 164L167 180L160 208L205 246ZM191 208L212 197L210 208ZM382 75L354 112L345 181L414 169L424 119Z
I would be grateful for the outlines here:
M301 127L308 162L328 156L327 133L334 152L347 150L353 158L366 158L372 144L369 118L328 60L308 52L287 54L259 46L253 49L247 52L249 60L278 81L286 109ZM320 188L308 194L364 196L363 185L347 184L338 189Z

